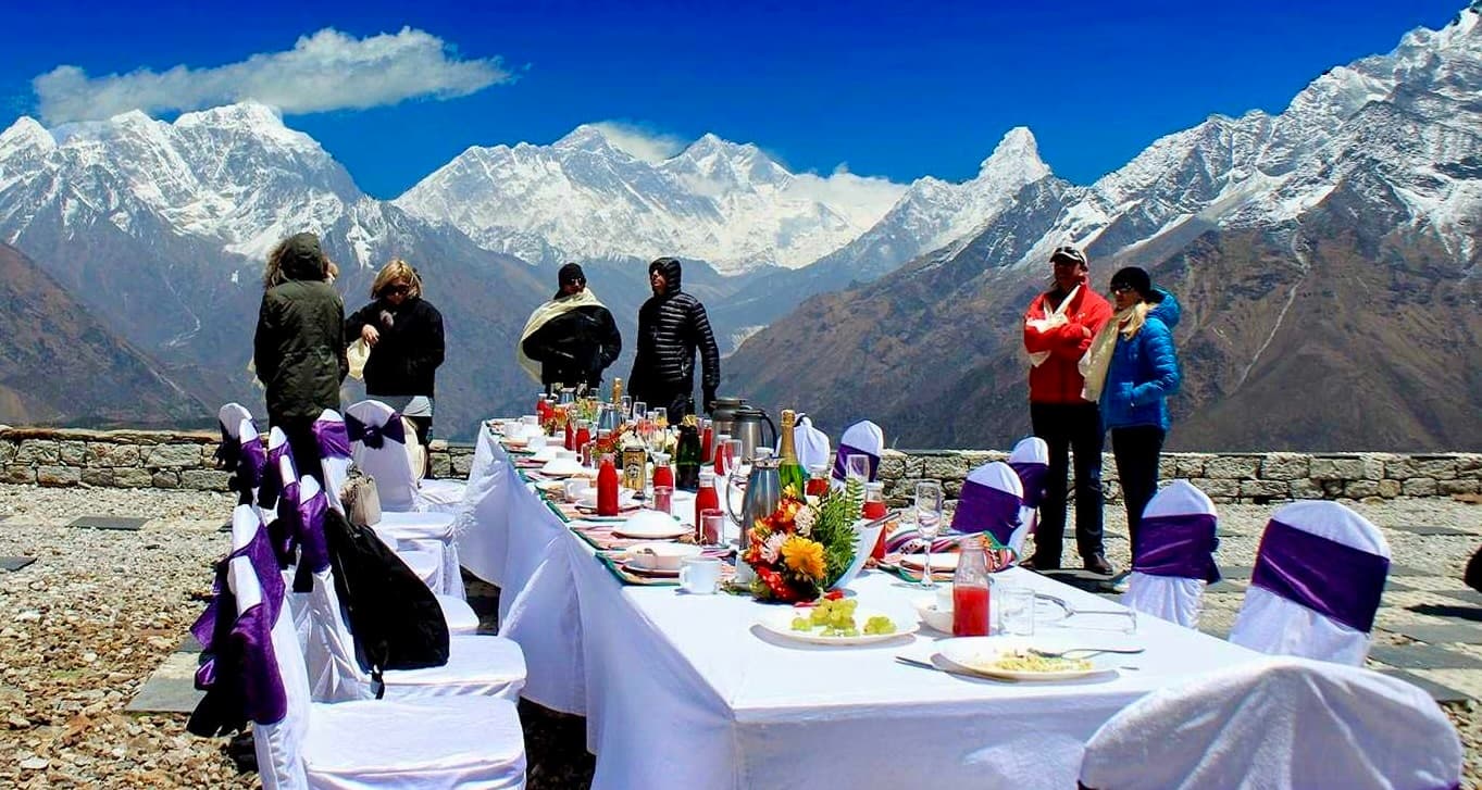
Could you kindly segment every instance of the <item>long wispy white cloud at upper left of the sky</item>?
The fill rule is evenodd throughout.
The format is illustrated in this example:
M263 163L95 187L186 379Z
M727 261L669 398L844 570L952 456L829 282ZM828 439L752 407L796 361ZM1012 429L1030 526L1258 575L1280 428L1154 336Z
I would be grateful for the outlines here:
M96 120L142 110L187 111L255 99L286 114L363 110L413 96L467 96L516 77L499 58L459 59L442 39L412 28L366 39L325 28L288 52L213 68L176 65L89 77L61 65L31 80L46 123Z

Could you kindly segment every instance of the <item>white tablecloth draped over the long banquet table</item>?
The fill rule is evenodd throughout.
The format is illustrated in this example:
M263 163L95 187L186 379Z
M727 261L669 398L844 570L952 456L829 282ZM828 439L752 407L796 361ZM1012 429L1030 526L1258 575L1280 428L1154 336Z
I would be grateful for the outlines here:
M1119 634L1144 654L1120 657L1112 679L1083 682L1005 683L895 661L907 649L929 654L923 643L940 634L925 625L880 645L793 643L754 625L775 606L622 584L522 482L488 428L470 486L459 556L502 588L499 633L525 651L526 697L587 716L594 787L1074 787L1085 741L1128 703L1260 660L1152 617L1138 618L1135 636ZM1017 568L997 578L1074 609L1119 608ZM885 572L851 588L861 606L910 621L923 594ZM1122 623L1074 615L1040 633L1104 640Z

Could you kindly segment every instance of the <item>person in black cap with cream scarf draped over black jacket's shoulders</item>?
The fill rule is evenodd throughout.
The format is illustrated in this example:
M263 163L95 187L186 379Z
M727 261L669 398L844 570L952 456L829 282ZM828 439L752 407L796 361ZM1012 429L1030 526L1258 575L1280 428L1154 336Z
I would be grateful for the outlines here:
M622 335L612 313L587 288L579 265L560 267L557 286L556 295L525 322L516 359L547 390L585 384L596 391L602 372L622 351Z

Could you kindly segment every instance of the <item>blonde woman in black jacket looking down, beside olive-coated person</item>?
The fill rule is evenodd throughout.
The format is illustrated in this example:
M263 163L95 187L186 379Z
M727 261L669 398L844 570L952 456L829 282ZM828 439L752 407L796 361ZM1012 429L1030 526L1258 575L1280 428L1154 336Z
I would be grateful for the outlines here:
M422 277L402 259L376 274L370 299L345 320L345 336L370 347L366 397L409 418L425 448L433 431L433 379L443 363L443 314L422 298Z

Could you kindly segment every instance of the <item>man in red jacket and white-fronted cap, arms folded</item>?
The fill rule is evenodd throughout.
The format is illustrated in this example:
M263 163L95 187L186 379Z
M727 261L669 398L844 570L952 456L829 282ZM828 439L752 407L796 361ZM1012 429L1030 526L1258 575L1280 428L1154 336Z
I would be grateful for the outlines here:
M1034 436L1049 445L1045 499L1034 531L1034 556L1024 568L1060 568L1066 535L1066 473L1076 454L1076 548L1086 571L1112 575L1101 544L1101 412L1080 397L1085 379L1076 368L1091 338L1112 319L1112 305L1091 289L1086 256L1064 246L1049 256L1054 288L1034 296L1024 313L1029 414Z

